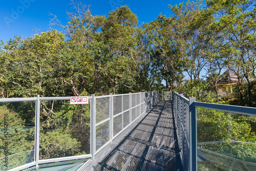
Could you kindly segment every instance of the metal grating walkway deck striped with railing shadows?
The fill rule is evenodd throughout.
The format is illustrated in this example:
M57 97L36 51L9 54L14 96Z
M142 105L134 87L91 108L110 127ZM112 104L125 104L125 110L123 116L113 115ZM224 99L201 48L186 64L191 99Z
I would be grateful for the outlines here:
M160 101L80 170L181 170L171 101Z

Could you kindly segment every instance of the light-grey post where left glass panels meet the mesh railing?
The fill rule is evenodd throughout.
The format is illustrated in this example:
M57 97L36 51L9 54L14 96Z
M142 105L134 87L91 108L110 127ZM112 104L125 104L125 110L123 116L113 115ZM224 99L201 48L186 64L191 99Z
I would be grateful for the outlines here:
M96 136L96 127L95 127L95 117L96 117L96 99L95 99L95 95L92 94L92 99L91 99L91 117L90 117L90 139L91 139L91 155L92 155L92 160L94 160L94 155L95 155L95 145L96 145L96 140L95 140L95 136Z

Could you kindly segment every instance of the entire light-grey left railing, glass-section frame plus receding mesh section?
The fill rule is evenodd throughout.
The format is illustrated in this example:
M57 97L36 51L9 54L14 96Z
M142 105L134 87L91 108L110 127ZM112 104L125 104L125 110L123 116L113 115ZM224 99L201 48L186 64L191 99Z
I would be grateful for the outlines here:
M112 142L112 140L131 125L138 117L140 117L147 109L150 109L159 101L159 92L145 92L145 93L129 93L121 95L106 95L106 96L95 96L89 97L91 99L91 125L90 125L90 145L91 153L88 155L60 157L52 159L39 159L39 123L40 123L40 101L42 100L70 100L71 97L36 97L29 98L0 98L0 102L17 102L17 101L34 101L35 102L35 139L34 148L31 150L34 155L34 161L27 163L22 166L10 169L21 170L28 167L36 166L42 163L51 163L59 161L67 161L82 158L92 158L98 153L106 144ZM100 100L105 101L100 101ZM104 103L106 102L106 103ZM107 111L100 111L99 106ZM103 120L97 118L98 115L102 114ZM107 116L107 117L105 117ZM101 116L99 116L101 117ZM104 118L105 117L105 118ZM99 120L97 120L99 119ZM120 122L121 121L121 122ZM105 124L108 123L108 124ZM104 130L103 135L97 134L97 126L100 127L102 124L108 125L109 130ZM100 144L100 139L104 138L105 135L109 136L108 142ZM96 139L98 138L98 139ZM96 149L97 145L97 149ZM20 152L23 153L23 152ZM8 156L7 156L8 157Z

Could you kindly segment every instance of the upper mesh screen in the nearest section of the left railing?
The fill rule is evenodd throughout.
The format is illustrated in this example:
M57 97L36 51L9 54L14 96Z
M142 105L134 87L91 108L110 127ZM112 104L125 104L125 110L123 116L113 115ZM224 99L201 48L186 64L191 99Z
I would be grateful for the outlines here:
M96 123L108 119L110 116L110 98L96 99Z

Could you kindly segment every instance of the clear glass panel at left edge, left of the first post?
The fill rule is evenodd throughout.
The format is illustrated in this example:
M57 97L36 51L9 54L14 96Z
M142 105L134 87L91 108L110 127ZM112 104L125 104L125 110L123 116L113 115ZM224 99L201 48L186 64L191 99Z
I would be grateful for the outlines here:
M0 170L34 161L35 101L0 103Z

